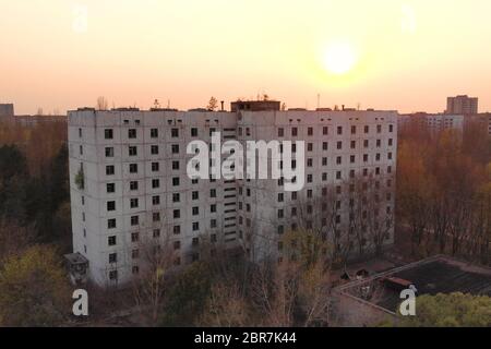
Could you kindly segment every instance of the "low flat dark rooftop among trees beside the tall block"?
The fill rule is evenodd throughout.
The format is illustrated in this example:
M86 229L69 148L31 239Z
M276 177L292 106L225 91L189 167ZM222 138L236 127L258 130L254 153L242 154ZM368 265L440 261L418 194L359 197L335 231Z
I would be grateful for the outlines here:
M410 285L418 296L462 292L491 297L491 268L439 255L348 282L338 291L395 312L400 291Z

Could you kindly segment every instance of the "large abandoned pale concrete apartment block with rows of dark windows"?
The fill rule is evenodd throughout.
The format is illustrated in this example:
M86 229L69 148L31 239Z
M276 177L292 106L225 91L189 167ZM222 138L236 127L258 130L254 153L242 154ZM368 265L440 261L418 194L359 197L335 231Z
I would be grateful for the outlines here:
M209 144L215 132L244 147L248 141L303 141L304 153L292 160L303 161L303 189L287 192L284 179L190 178L188 145ZM169 245L176 265L199 260L205 241L254 257L280 254L282 234L299 228L298 206L325 196L327 186L337 195L336 233L349 234L344 183L350 179L375 178L383 215L394 212L393 111L80 109L69 112L69 151L73 252L87 260L88 277L100 286L139 274L147 242ZM393 229L387 225L384 245L393 243Z

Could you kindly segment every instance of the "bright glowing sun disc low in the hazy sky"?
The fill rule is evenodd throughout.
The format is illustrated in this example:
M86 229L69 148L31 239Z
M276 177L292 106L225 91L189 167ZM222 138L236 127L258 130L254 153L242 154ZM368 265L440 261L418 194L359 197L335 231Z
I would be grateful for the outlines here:
M345 75L357 64L358 57L348 43L335 43L330 45L324 53L324 68L331 74Z

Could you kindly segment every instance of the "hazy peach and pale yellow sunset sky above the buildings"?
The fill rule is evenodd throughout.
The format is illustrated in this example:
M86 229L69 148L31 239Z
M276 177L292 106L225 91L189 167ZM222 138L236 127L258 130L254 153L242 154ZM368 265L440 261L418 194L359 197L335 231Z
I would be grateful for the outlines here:
M469 94L491 110L490 14L490 0L0 0L0 103L188 109L266 93L441 111Z

